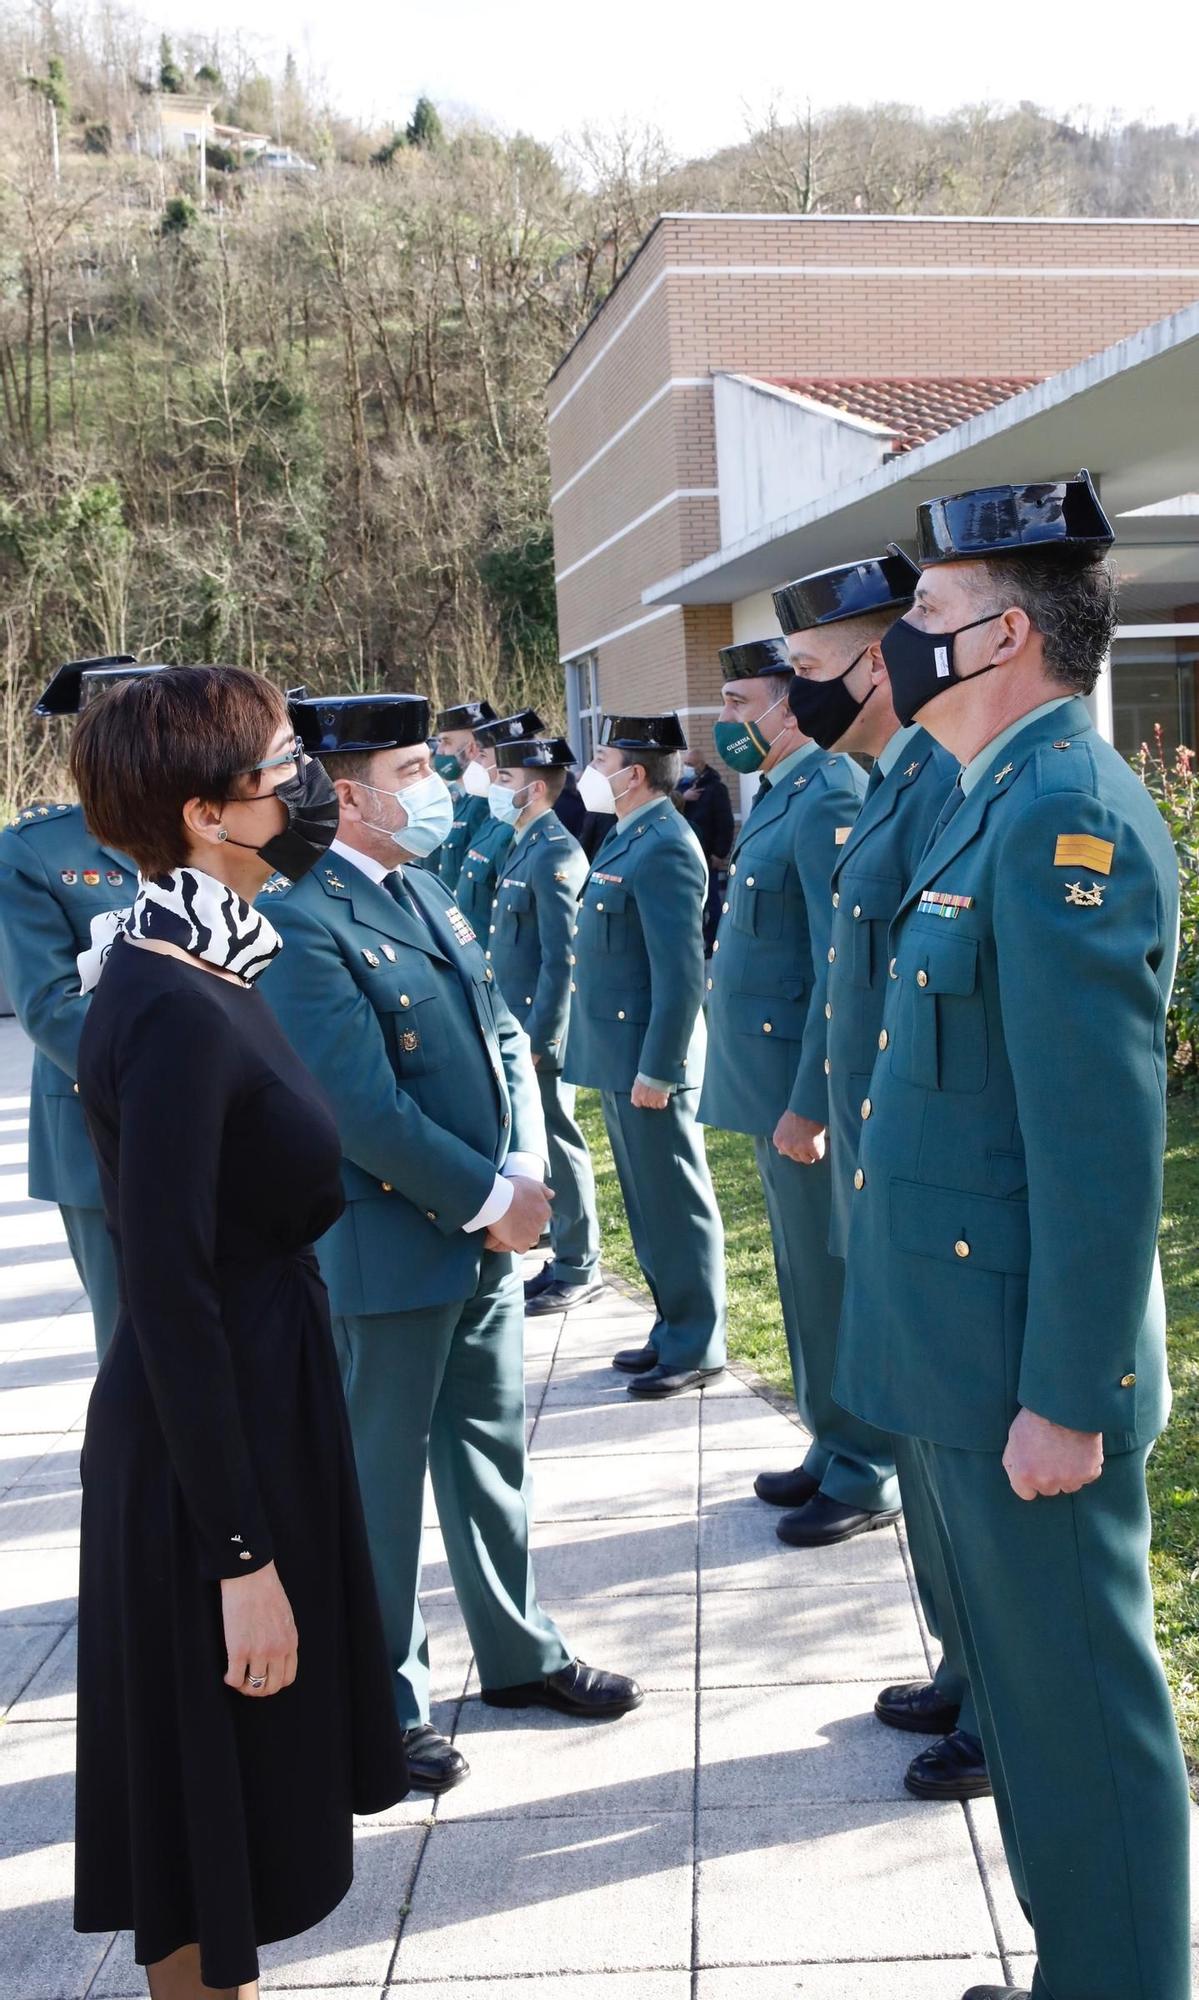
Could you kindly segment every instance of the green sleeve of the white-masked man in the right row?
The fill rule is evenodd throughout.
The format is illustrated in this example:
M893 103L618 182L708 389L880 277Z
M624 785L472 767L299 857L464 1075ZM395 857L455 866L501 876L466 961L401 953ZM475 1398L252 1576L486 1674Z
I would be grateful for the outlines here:
M641 1076L679 1090L703 1004L703 898L707 868L691 838L659 840L631 882L649 954L649 1024L637 1054Z

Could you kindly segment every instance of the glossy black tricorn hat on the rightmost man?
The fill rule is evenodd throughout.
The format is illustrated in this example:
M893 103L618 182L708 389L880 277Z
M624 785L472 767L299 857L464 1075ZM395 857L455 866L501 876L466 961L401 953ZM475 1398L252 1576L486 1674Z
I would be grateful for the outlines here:
M1111 548L1115 528L1099 506L1089 472L1037 486L979 486L969 494L921 500L915 510L917 562L969 562L1027 548Z

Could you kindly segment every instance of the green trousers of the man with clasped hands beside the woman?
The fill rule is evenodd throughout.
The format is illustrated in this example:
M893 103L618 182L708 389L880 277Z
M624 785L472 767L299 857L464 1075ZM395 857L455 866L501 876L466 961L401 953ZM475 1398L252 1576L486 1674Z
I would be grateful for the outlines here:
M482 1686L512 1688L568 1666L566 1640L534 1588L524 1286L512 1258L484 1252L474 1298L336 1318L334 1338L400 1726L430 1720L420 1610L426 1464Z

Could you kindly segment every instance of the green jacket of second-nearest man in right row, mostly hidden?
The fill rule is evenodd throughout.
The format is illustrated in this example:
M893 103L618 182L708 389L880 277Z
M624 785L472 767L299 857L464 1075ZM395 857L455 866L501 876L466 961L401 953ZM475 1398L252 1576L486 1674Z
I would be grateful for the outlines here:
M917 730L887 776L867 784L865 804L837 848L831 930L837 956L829 966L825 1006L833 1162L829 1250L841 1258L887 998L887 930L955 782L957 758Z

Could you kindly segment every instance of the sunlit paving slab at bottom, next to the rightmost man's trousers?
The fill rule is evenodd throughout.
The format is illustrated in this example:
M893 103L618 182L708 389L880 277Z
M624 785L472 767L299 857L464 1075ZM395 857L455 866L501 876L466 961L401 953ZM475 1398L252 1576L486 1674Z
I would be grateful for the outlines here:
M989 1936L959 1806L715 1808L697 1828L701 1964L965 1958Z

